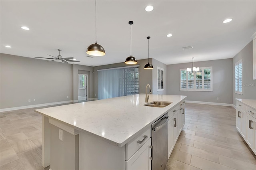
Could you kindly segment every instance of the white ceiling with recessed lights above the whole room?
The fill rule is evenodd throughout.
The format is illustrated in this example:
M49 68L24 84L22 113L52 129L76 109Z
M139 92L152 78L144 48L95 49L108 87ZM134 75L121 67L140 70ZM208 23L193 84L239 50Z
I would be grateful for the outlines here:
M148 5L154 6L152 12L144 10ZM89 58L86 49L95 43L95 1L1 0L0 49L24 57L57 56L62 49L62 57L75 57L81 65L120 63L130 56L132 20L132 56L137 60L148 58L147 36L150 58L165 64L191 62L191 57L232 58L252 40L255 7L255 0L98 0L97 43L106 55ZM222 23L226 18L233 20ZM173 36L168 38L169 33ZM182 49L190 45L193 49Z

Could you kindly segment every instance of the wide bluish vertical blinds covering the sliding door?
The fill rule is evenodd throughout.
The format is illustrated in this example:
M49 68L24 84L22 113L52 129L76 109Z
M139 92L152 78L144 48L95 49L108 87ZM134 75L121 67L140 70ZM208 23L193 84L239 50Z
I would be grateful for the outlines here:
M98 70L98 99L139 93L139 66Z

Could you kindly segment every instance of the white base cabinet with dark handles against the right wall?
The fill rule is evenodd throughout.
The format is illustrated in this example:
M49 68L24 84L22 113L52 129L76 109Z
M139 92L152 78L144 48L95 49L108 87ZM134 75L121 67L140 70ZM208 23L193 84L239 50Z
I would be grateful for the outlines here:
M240 116L240 117L239 117ZM256 154L256 111L255 108L244 103L236 105L236 128Z

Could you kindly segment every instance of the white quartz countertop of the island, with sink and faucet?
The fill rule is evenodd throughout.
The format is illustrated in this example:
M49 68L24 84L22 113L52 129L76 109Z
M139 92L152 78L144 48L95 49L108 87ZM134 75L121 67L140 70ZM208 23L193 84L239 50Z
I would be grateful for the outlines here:
M152 95L151 101L170 101L167 107L144 106L146 94L75 103L35 111L77 130L84 130L119 147L150 127L186 96Z

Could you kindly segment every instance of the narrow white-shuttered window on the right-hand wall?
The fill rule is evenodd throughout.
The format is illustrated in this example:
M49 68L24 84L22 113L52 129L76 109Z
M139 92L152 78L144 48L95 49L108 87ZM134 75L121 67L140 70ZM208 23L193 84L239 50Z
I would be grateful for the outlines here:
M235 64L235 93L243 94L243 59Z

